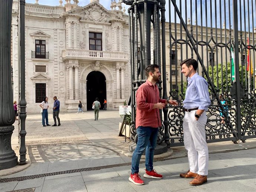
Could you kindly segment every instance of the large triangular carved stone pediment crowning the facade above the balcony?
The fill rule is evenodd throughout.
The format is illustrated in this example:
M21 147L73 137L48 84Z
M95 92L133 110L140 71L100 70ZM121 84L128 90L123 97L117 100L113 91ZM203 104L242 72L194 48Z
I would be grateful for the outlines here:
M67 14L75 14L81 16L82 20L93 21L95 23L104 22L108 23L110 20L125 20L118 16L113 11L105 9L101 4L93 2L84 7L77 7L76 9L66 12Z

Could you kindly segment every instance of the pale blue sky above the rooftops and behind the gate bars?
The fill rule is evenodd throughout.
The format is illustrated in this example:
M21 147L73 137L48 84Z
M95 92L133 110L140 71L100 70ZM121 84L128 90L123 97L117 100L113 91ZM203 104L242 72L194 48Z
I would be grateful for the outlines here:
M65 0L62 0L64 5L66 3ZM116 0L118 1L118 0ZM203 25L206 26L206 21L207 21L207 26L210 27L211 24L213 27L217 26L218 28L223 27L223 23L225 22L226 28L233 29L233 17L230 17L229 20L229 15L233 15L233 1L232 0L221 0L221 1L213 1L213 0L175 0L177 3L178 9L181 7L181 14L184 18L184 21L190 18L190 23L195 24L195 21L197 20L198 25ZM216 4L214 3L216 2ZM221 2L221 3L220 3ZM230 5L229 5L230 2ZM240 11L238 11L238 20L239 20L239 30L246 29L246 31L253 32L254 27L256 26L256 1L255 0L246 0L246 1L237 1L238 2L238 7L240 7L239 2L241 2L241 17L240 17ZM245 2L245 4L244 4ZM249 2L249 4L248 4ZM35 3L35 0L26 0L26 3ZM59 5L59 0L39 0L39 4L42 5L49 5L49 6L58 6ZM71 0L71 3L73 3L73 0ZM86 6L87 4L90 3L90 0L79 0L78 5L79 6ZM111 0L99 0L99 3L102 4L106 9L111 10L110 4ZM226 3L226 4L225 4ZM180 6L181 4L181 6ZM125 6L126 13L129 8L129 6L124 5L122 3L122 6ZM226 7L226 9L224 9ZM245 8L245 9L244 9ZM116 7L118 9L118 7ZM170 0L170 6L169 6L169 0L166 0L166 5L165 5L165 18L166 21L172 21L174 22L175 20L175 11L174 11L174 6ZM169 16L169 10L170 11L170 16ZM207 10L207 11L206 11ZM211 10L211 11L210 11ZM216 10L216 16L215 16L215 10ZM191 14L192 11L192 14ZM186 17L187 13L187 17ZM202 13L202 17L201 17ZM225 14L226 13L226 14ZM127 13L128 14L128 13ZM196 17L197 15L197 17ZM192 16L192 19L191 19ZM225 19L226 16L226 19ZM186 18L186 19L185 19ZM212 20L212 23L210 22ZM241 22L240 22L241 20ZM176 22L179 23L180 20L178 19L178 16L176 14ZM240 26L241 24L241 26Z

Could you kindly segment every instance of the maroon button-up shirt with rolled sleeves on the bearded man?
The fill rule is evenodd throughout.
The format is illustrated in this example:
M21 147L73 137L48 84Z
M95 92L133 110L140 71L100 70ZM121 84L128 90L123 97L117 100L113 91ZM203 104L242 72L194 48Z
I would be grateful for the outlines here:
M159 128L161 119L159 109L153 109L155 103L165 103L166 99L160 99L157 85L147 80L136 93L136 128L138 126Z

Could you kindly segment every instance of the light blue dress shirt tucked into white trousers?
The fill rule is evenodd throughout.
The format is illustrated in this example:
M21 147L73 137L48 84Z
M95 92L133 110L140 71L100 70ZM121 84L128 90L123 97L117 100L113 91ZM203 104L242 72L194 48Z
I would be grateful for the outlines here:
M191 78L188 77L188 86L183 104L186 109L198 107L201 110L207 110L211 104L208 83L198 73L195 73Z

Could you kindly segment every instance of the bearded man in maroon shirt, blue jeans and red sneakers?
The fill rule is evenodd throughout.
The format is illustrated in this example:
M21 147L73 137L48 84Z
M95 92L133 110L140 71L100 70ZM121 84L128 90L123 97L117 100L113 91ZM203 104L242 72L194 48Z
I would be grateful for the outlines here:
M177 102L169 99L160 99L159 90L155 83L160 80L161 73L156 64L149 65L145 69L147 81L143 83L136 94L137 112L136 128L138 142L132 155L132 168L129 181L135 185L144 185L139 172L139 164L142 153L146 149L145 178L161 179L163 175L158 174L153 169L154 150L157 145L158 128L161 127L159 109L165 105L178 105Z

